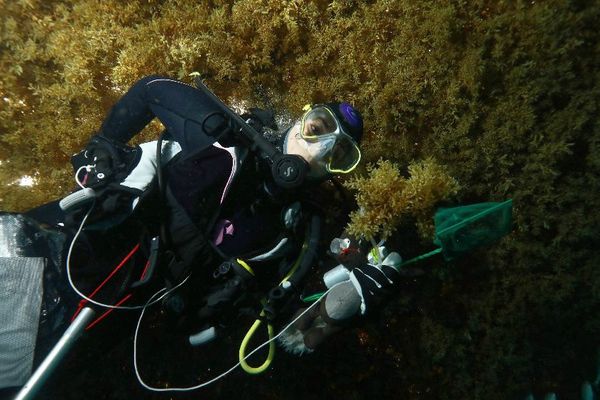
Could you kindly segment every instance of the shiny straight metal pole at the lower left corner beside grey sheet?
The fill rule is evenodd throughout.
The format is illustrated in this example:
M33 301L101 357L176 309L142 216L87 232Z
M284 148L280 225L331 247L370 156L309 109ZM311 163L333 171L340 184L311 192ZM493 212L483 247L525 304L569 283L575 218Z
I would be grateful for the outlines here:
M96 312L89 307L85 307L81 310L79 315L77 315L77 318L71 322L71 325L69 325L58 343L56 343L44 361L42 361L33 375L31 375L27 383L25 383L25 386L21 388L17 397L15 397L15 400L30 400L34 398L48 377L56 369L60 361L83 333L85 327L91 322L92 318L94 318L95 314Z

